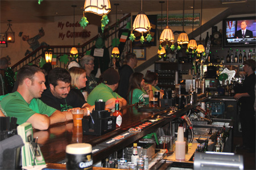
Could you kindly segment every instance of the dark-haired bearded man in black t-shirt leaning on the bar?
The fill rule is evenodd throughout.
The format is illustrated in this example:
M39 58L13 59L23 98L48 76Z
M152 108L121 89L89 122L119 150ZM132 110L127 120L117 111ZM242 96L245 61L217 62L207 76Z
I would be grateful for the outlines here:
M75 91L71 90L71 75L67 70L59 67L51 70L48 80L50 88L44 91L40 98L47 105L59 111L82 108L85 113L91 112L94 108L94 105L89 105Z

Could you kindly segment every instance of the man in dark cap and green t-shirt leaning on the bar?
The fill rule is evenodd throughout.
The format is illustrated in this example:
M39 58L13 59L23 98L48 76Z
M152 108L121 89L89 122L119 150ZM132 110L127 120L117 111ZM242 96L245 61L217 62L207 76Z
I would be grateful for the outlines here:
M119 74L114 69L110 68L102 74L102 83L98 84L87 97L87 102L90 105L94 105L95 101L102 99L105 101L105 105L109 105L109 108L114 108L115 100L119 100L119 106L123 107L127 105L127 101L123 97L119 96L115 90L117 90L119 82Z

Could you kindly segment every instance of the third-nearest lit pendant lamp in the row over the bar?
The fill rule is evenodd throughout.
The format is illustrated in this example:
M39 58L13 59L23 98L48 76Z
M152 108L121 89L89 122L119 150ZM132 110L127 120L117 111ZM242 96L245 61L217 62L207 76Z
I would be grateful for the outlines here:
M174 33L172 32L172 29L168 25L168 0L167 0L167 26L164 28L163 32L160 35L160 44L162 46L168 44L171 46L171 42L174 42Z

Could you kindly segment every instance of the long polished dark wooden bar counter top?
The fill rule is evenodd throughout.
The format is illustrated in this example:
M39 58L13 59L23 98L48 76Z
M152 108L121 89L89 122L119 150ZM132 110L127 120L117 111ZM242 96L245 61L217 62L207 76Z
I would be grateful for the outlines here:
M67 145L71 143L90 143L94 150L95 147L99 148L104 141L108 141L109 139L124 133L130 128L134 128L135 126L140 125L152 118L160 118L158 122L142 129L140 133L128 135L125 137L125 139L114 142L114 145L103 147L100 151L95 153L93 152L93 162L97 163L112 152L118 151L127 145L130 145L131 143L144 137L144 135L147 135L157 128L168 124L175 118L182 116L185 112L189 111L189 109L199 105L201 101L207 101L209 99L210 97L201 97L201 99L195 104L188 105L188 107L185 107L184 109L181 109L170 116L167 115L171 110L169 108L164 111L157 112L138 112L134 105L123 107L121 109L123 115L121 128L115 129L101 136L82 134L77 135L77 133L74 131L76 129L73 127L73 122L68 121L51 125L48 130L34 129L34 137L38 137L38 143L41 145L40 148L42 150L44 159L48 164L48 168L62 169L64 168L64 165L61 165L61 163L64 163L65 161L65 148Z

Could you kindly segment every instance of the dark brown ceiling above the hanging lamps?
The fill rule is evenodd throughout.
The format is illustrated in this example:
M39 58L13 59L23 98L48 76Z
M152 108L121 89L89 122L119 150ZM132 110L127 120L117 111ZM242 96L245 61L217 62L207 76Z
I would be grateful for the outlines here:
M41 0L42 1L42 0ZM85 0L63 1L63 0L43 0L38 4L38 0L1 0L1 24L12 20L12 23L35 23L35 22L53 22L54 16L73 15L72 5L77 5L75 15L82 15L82 8ZM96 0L93 0L96 1ZM241 3L222 4L222 1L245 1ZM115 14L114 3L119 3L118 14L127 14L130 12L139 12L141 10L141 0L110 0L112 11ZM169 13L174 10L183 10L182 0L169 0ZM193 6L193 0L185 0L185 10ZM163 11L166 11L167 1L163 3ZM229 7L232 15L255 14L255 0L203 0L203 8L227 8ZM195 9L201 9L201 1L195 0ZM143 11L161 11L161 4L155 0L143 0ZM88 14L86 14L87 16ZM89 14L94 15L94 14Z

